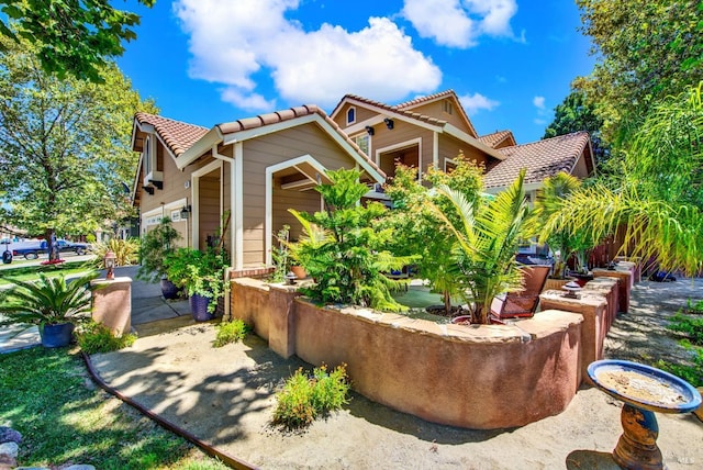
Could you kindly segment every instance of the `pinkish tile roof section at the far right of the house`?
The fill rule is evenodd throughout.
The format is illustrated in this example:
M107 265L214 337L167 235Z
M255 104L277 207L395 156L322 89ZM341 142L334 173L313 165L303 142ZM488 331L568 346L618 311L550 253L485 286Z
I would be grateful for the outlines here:
M562 170L571 172L589 141L588 132L577 132L499 148L498 152L506 158L489 168L484 179L486 187L510 186L522 168L527 169L525 183L543 181Z

